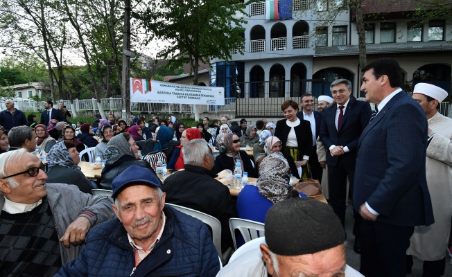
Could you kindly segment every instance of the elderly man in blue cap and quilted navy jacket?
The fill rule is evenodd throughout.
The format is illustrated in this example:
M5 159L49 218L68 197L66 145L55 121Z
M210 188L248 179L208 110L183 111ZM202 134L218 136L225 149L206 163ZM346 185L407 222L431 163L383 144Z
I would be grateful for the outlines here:
M165 206L161 186L139 166L118 175L118 218L92 229L77 260L55 276L215 276L220 262L207 226Z

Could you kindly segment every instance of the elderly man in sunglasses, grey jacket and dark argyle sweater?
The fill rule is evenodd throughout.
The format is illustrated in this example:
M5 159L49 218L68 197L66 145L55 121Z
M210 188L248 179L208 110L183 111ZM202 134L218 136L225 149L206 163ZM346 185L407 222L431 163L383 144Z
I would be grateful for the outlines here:
M46 179L25 149L0 155L1 276L53 276L77 258L92 226L114 217L107 197Z

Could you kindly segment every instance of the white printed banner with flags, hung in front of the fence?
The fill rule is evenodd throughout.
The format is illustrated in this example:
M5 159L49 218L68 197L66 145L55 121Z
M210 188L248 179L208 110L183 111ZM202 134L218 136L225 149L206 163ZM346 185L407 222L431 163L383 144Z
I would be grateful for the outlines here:
M130 78L130 102L225 105L223 87Z

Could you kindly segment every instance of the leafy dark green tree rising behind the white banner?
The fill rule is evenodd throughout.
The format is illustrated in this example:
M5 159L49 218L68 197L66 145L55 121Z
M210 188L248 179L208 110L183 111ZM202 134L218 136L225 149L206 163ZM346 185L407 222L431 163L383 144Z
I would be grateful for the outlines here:
M172 69L190 64L193 83L198 84L198 64L210 59L229 60L230 51L243 44L245 23L238 18L249 1L153 0L132 12L148 33L169 45L157 53ZM141 8L144 9L141 10ZM241 51L243 54L243 51Z

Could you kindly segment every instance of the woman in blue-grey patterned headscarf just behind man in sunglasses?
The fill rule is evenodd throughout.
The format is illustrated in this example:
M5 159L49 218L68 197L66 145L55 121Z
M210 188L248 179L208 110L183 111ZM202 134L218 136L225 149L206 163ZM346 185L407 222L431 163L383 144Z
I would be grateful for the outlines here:
M72 141L62 141L53 145L47 154L47 183L63 183L78 186L83 193L91 193L93 184L83 175L76 145Z

